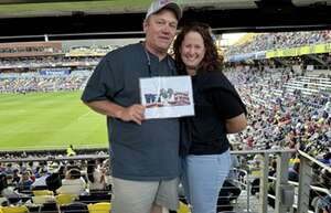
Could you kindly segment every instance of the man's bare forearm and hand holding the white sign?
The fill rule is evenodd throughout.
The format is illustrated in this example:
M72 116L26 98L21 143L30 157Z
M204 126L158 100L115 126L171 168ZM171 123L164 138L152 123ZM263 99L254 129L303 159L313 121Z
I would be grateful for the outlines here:
M119 118L124 121L134 121L141 125L141 121L145 119L145 106L140 104L135 104L129 107L122 107L109 100L84 102L84 104L96 113Z

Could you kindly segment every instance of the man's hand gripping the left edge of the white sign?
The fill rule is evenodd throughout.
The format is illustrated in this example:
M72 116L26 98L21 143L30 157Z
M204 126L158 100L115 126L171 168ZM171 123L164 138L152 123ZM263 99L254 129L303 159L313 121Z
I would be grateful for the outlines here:
M134 121L138 125L141 125L141 121L145 119L145 106L135 104L127 108L122 108L119 111L119 118L124 121Z

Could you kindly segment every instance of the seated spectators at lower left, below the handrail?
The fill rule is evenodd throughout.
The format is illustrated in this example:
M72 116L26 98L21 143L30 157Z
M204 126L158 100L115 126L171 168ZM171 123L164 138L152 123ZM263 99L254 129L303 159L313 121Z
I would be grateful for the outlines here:
M51 196L39 201L38 193L45 190ZM93 203L103 199L109 201L110 193L108 159L0 163L1 206L22 202L55 203L58 194L72 194L82 202Z

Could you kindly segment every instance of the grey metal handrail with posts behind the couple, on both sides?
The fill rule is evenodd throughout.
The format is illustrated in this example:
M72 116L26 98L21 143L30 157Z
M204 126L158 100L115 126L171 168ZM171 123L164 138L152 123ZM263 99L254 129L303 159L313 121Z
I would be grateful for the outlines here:
M310 157L309 155L302 152L302 151L297 151L293 149L277 149L277 150L244 150L244 151L231 151L232 155L237 155L237 156L245 156L245 155L261 155L264 157L264 166L261 168L261 174L259 177L260 179L260 191L259 191L259 203L260 203L260 210L259 212L265 213L267 212L267 201L265 198L271 198L270 195L268 195L267 191L266 191L266 185L268 183L268 178L276 180L277 184L276 184L276 202L275 202L275 206L276 206L276 213L285 213L286 212L286 207L288 207L286 205L286 203L282 203L284 201L281 201L281 194L282 194L282 190L287 189L286 187L289 184L293 184L296 187L298 187L299 189L299 193L298 193L298 198L301 196L301 200L299 199L298 203L295 203L293 206L297 204L298 205L298 213L306 213L308 211L306 211L306 209L300 205L307 205L308 200L305 200L305 193L307 193L307 191L305 190L317 190L317 191L321 191L324 193L330 194L330 192L327 189L322 189L322 188L318 188L314 185L310 185L309 182L309 169L311 169L311 162L319 164L321 168L327 169L328 171L330 171L330 168L328 166L325 166L324 163L316 160L314 158ZM299 183L297 182L290 182L287 180L288 177L288 161L289 161L289 157L291 156L291 153L298 153L299 158L300 158L300 164L305 166L305 168L302 169L302 172L300 172L300 181ZM273 177L268 177L268 167L266 167L268 164L268 160L269 160L269 155L273 156L277 156L277 160L279 163L277 163L277 178L273 178ZM21 159L17 159L17 158L12 158L12 159L0 159L0 162L29 162L29 161L71 161L71 160L87 160L87 159L108 159L109 155L79 155L79 156L73 156L73 157L61 157L61 156L55 156L55 157L43 157L43 158L21 158ZM301 168L300 168L301 169ZM236 169L238 170L238 169ZM246 178L249 178L249 172L247 172L246 170L241 170L243 172L245 172ZM243 183L241 183L243 184ZM250 200L252 198L249 198L249 180L247 181L246 185L246 190L247 190L247 203L246 200L244 201L244 203L246 203L245 205L247 205L247 212L252 212L250 207L255 207L252 205ZM307 185L310 185L310 188L307 188ZM302 191L303 189L303 191ZM261 199L264 198L264 199ZM303 198L303 199L302 199ZM246 209L246 206L245 206Z

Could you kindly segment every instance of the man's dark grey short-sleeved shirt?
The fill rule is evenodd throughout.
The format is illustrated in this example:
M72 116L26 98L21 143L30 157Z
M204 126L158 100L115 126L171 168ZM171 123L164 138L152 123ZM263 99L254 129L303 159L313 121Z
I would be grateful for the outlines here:
M140 43L127 45L102 60L85 87L82 100L108 99L124 107L140 104L140 77L174 74L170 56L159 62ZM107 126L114 177L159 181L179 175L178 119L143 120L139 126L107 117Z

